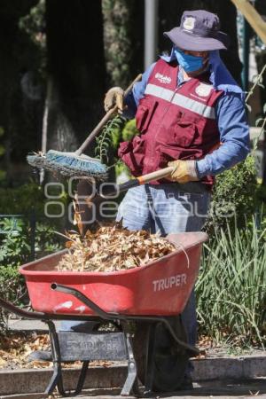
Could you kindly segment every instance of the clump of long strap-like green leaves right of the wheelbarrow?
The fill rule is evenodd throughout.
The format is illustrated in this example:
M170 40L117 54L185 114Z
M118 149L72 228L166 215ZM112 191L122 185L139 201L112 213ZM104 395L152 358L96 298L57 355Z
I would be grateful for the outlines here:
M253 218L215 231L205 246L196 283L200 332L216 341L266 338L266 229Z

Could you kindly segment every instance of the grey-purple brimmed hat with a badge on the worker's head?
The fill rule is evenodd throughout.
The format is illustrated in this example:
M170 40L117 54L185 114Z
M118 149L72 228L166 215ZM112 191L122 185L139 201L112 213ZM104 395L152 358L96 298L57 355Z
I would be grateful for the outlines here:
M204 10L184 12L180 27L174 27L164 35L176 47L189 51L212 51L227 49L229 37L220 30L217 15Z

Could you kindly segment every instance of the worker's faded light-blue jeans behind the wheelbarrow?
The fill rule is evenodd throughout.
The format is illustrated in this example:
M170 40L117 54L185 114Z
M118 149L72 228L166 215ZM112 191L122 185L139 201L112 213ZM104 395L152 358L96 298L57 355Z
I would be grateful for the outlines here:
M117 221L132 231L168 233L200 231L207 217L209 192L185 192L187 184L145 184L130 189L118 208ZM197 340L194 291L182 314L188 341Z

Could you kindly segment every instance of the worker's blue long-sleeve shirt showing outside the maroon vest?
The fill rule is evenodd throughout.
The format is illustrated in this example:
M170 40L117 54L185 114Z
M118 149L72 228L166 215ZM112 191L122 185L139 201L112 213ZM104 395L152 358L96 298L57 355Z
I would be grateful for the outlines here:
M134 85L129 96L125 98L128 106L126 116L134 118L139 100L145 95L145 87L155 63L142 76L141 82ZM177 85L184 84L182 69L179 69ZM227 91L218 98L215 104L215 117L223 145L204 159L197 160L199 177L217 175L231 168L249 153L249 128L246 119L245 102L240 92Z

